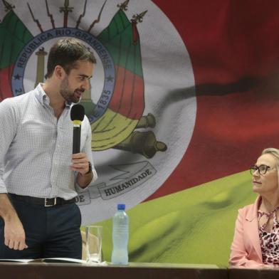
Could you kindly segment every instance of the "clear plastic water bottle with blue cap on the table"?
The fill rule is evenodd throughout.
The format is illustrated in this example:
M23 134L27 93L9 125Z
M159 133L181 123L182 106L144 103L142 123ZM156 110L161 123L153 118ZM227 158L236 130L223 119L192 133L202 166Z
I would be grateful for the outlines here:
M129 216L125 204L117 204L117 212L112 221L112 264L128 264Z

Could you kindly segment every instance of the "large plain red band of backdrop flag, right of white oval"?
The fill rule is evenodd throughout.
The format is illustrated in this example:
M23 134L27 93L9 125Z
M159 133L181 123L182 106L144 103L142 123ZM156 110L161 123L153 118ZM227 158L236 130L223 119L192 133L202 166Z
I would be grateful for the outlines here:
M149 199L241 172L279 148L279 1L153 1L189 51L197 115L184 157Z

